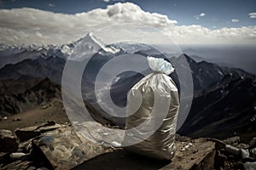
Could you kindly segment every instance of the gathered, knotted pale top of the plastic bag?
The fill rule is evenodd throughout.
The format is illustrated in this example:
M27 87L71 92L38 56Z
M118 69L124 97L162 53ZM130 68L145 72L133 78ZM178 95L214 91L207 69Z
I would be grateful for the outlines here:
M149 67L156 72L163 72L166 75L171 74L174 68L171 63L167 62L165 59L147 57Z

